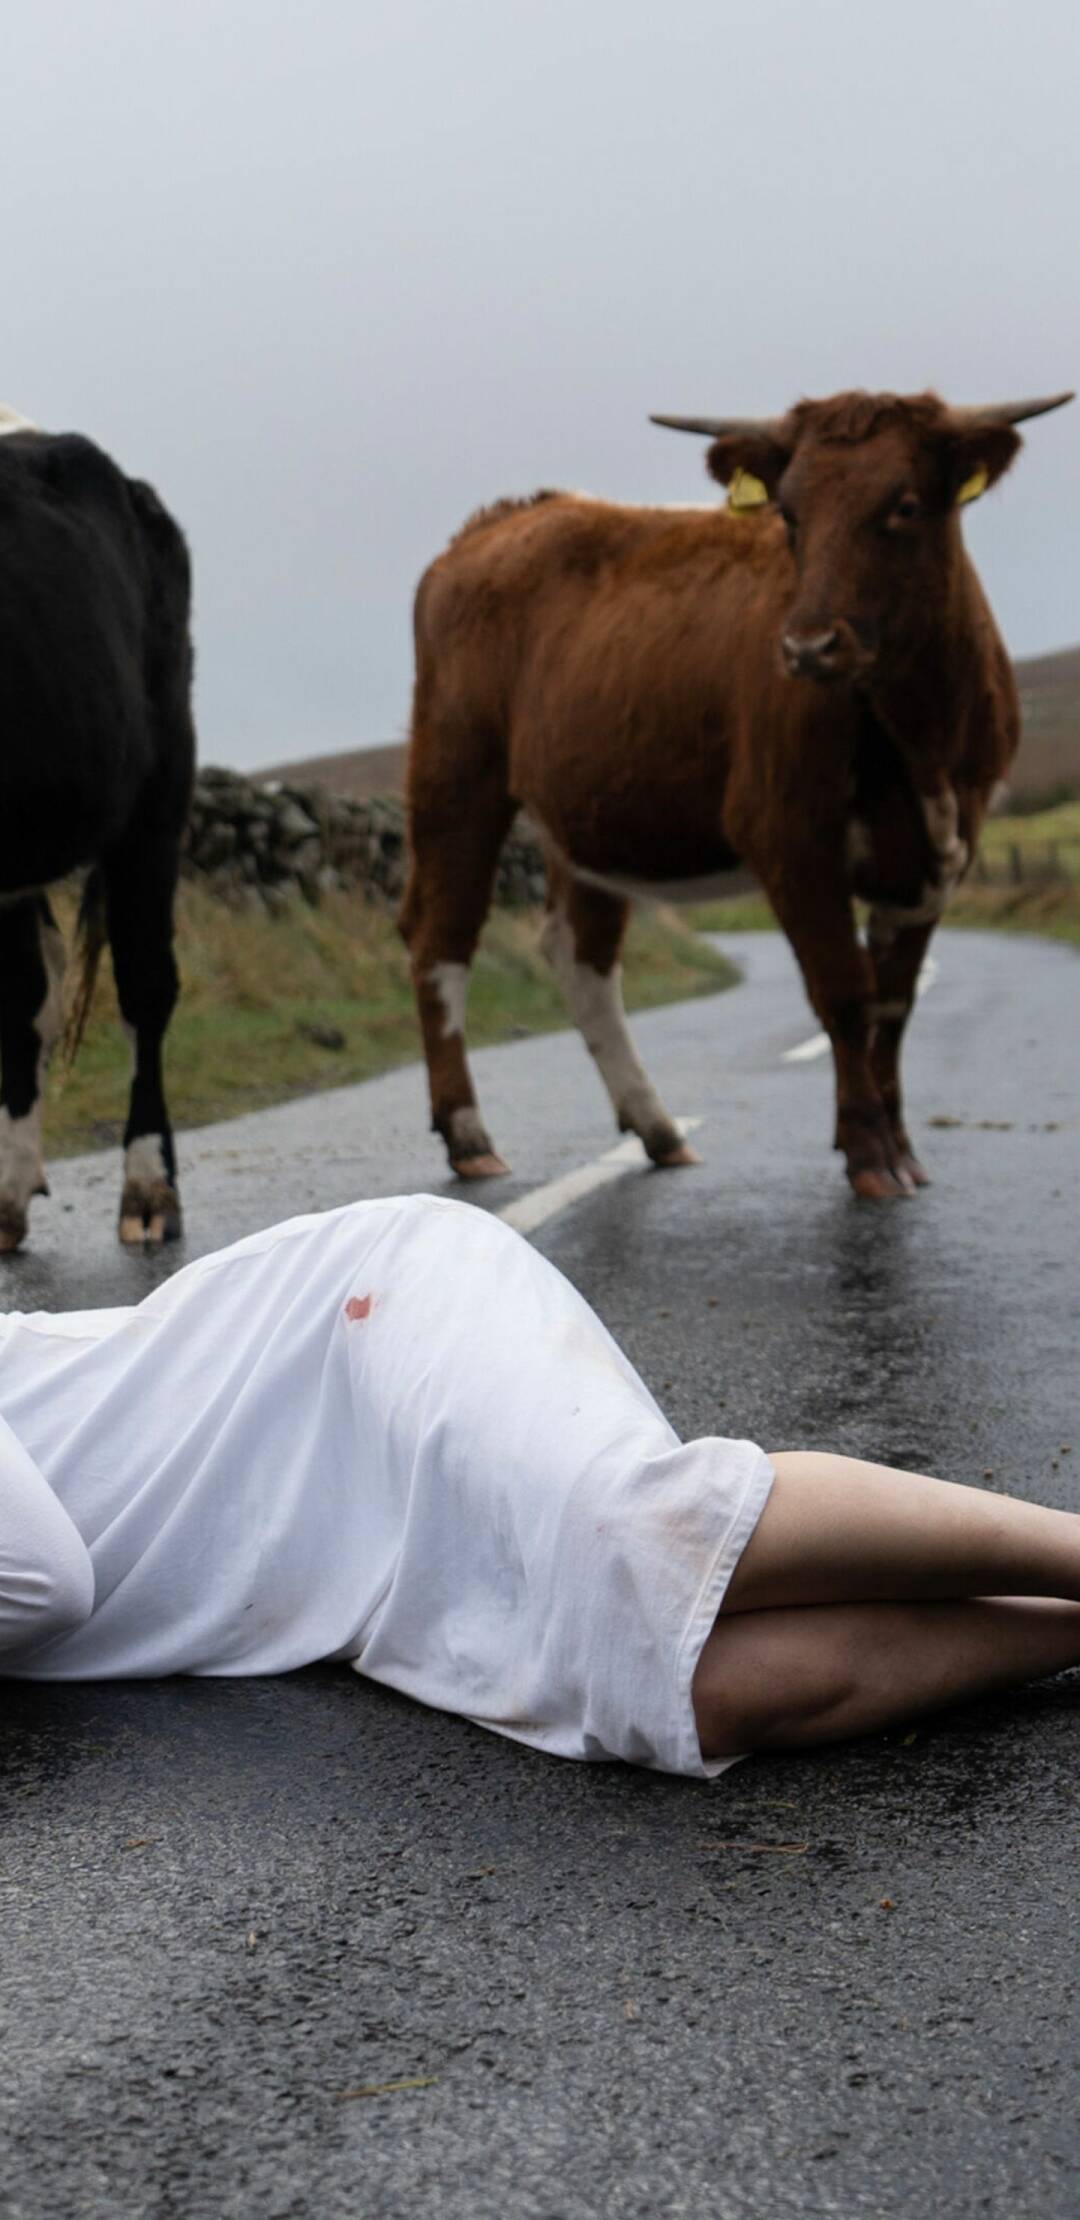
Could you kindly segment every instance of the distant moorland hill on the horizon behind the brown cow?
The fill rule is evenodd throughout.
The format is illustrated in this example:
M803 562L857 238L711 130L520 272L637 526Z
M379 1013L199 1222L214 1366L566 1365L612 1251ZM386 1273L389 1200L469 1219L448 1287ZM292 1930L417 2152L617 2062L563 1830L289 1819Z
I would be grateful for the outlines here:
M1040 808L1080 795L1080 648L1029 655L1016 666L1024 737L1009 784L1020 808ZM273 764L262 779L287 786L324 786L331 795L369 801L404 793L404 741L384 748L347 748Z

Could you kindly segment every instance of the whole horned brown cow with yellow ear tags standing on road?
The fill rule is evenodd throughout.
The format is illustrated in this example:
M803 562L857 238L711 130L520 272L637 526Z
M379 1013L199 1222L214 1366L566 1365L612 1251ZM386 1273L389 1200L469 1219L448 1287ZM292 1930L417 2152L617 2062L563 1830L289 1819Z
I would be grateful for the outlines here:
M547 955L653 1163L693 1154L627 1032L627 897L693 897L744 861L833 1046L851 1185L878 1199L924 1183L900 1039L1018 741L958 511L1009 468L1013 426L1067 400L840 393L771 422L656 417L713 442L727 508L538 493L478 511L431 564L400 926L456 1172L507 1170L464 1061L464 990L524 806L549 861Z

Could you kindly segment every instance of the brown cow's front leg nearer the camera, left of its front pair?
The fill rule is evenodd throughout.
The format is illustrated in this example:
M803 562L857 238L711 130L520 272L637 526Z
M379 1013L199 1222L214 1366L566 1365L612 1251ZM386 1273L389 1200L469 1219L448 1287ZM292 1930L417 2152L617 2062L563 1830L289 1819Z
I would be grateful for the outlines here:
M769 888L780 924L796 950L807 995L829 1035L836 1063L836 1141L847 1177L864 1201L913 1194L871 1063L876 977L856 935L851 899L842 888L822 890L827 866L804 864L802 899Z

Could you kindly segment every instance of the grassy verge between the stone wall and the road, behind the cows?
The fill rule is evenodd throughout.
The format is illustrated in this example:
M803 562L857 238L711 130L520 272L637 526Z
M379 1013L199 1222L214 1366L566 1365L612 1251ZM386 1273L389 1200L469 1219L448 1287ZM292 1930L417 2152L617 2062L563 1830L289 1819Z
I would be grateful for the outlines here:
M73 906L58 901L71 928ZM293 1094L371 1079L420 1054L409 961L393 919L360 897L331 895L318 910L280 917L227 910L198 884L180 888L182 995L167 1039L167 1090L176 1126L260 1110ZM624 952L631 1010L731 986L733 968L671 912L633 919ZM567 1008L538 950L538 917L500 910L480 944L469 990L469 1041L509 1041L567 1023ZM322 1048L304 1028L344 1035ZM127 1114L129 1052L109 961L82 1048L47 1088L47 1154L107 1148Z

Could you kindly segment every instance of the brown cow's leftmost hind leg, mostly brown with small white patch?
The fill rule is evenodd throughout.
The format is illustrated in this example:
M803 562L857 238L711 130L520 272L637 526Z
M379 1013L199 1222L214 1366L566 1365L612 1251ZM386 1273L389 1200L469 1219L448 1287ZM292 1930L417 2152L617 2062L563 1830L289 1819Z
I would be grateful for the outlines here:
M431 1088L431 1130L458 1179L496 1179L509 1166L482 1123L464 1054L469 966L491 904L513 801L493 779L467 797L424 790L409 826L409 881L398 930L409 948Z

